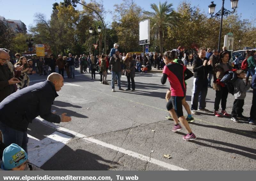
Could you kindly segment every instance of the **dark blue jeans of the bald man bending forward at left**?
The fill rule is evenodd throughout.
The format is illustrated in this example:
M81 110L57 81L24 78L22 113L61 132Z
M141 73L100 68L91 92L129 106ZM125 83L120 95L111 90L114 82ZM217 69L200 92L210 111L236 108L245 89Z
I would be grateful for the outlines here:
M28 135L27 132L17 131L10 128L0 121L0 130L3 134L3 143L8 147L15 143L22 147L28 153Z

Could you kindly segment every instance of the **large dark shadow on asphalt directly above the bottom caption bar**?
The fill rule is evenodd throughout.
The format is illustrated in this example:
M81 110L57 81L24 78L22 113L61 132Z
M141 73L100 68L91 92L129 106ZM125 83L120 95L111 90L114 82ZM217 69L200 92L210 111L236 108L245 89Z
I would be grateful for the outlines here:
M66 145L41 168L44 170L109 170L116 168L115 165L118 163L105 160L99 155L82 149L73 150Z

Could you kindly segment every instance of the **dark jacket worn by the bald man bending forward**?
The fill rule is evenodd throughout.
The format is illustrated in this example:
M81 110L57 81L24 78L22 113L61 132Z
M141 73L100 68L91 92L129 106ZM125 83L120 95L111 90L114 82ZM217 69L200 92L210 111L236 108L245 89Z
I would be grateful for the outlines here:
M0 103L0 121L7 126L25 132L28 124L37 116L60 123L60 116L51 113L58 94L49 80L19 90Z

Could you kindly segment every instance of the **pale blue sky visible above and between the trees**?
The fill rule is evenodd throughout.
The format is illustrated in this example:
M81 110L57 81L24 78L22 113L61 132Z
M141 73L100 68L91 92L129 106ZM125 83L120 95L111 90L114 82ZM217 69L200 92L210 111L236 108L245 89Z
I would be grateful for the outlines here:
M140 5L144 10L151 11L150 4L159 3L159 0L134 0L136 4ZM202 11L208 13L208 5L211 4L212 0L187 0L192 6L199 6ZM60 0L0 0L0 16L4 16L5 19L15 19L21 20L27 26L34 25L34 15L36 13L43 13L46 15L47 19L50 19L52 13L52 4L55 2L60 2ZM89 1L85 1L89 2ZM121 4L122 0L103 0L103 4L107 11L113 11L114 4ZM145 3L146 2L146 3ZM164 3L165 0L160 0ZM177 0L167 0L168 3L172 3L173 9L177 9L177 6L182 1ZM221 9L222 0L215 0L216 4L215 13ZM230 0L225 0L224 7L227 10L231 9ZM82 10L80 4L77 5L79 10ZM236 12L242 16L242 19L255 19L256 20L256 0L239 0L238 8ZM210 17L210 15L209 15ZM112 22L112 14L108 13L106 15L105 22L110 24ZM255 21L256 22L256 21ZM255 24L254 24L255 26Z

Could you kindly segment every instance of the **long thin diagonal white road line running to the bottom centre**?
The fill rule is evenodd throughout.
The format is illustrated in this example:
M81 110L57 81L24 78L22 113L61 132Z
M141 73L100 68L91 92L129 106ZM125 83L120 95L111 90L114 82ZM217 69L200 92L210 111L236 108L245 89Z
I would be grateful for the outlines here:
M72 134L72 135L74 135L74 136L76 136L78 138L82 138L86 142L95 143L97 145L101 145L103 147L107 147L107 148L116 150L116 151L124 153L126 155L135 157L137 159L140 159L140 160L143 160L143 161L146 161L146 162L150 162L150 163L156 164L158 166L161 166L161 167L164 167L164 168L167 168L167 169L170 169L170 170L186 170L186 169L183 169L181 167L178 167L178 166L175 166L175 165L172 165L172 164L169 164L169 163L166 163L166 162L162 162L160 160L156 160L154 158L150 158L148 156L145 156L145 155L133 152L131 150L127 150L127 149L124 149L124 148L121 148L121 147L116 147L115 145L111 145L111 144L108 144L106 142L103 142L103 141L100 141L100 140L96 140L94 138L89 138L86 135L83 135L83 134L80 134L78 132L74 132L74 131L68 130L68 129L64 128L64 127L57 126L57 125L55 125L55 124L53 124L51 122L48 122L48 121L42 119L41 117L37 117L36 120L41 122L41 123L43 123L43 124L45 124L45 125L47 125L47 126L50 126L50 127L54 128L54 129L56 129L57 131L67 132L67 133Z

